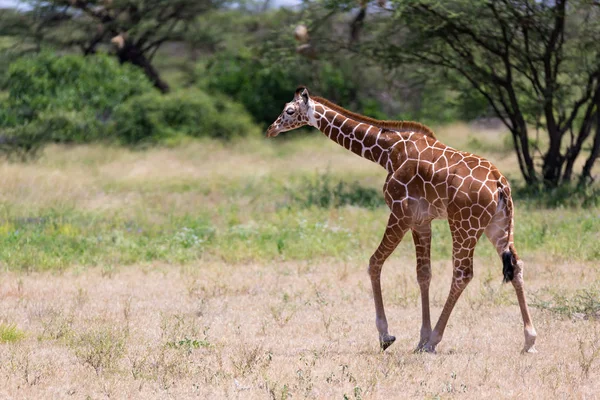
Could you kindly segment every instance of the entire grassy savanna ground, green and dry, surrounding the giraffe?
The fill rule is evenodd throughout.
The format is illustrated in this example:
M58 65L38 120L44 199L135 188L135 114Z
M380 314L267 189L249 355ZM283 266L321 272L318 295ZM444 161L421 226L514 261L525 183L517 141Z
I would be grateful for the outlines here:
M409 236L383 271L397 341L380 353L366 269L385 172L318 135L2 162L0 398L598 396L600 208L517 199L538 354L520 354L514 291L485 239L438 354L414 354ZM439 136L518 181L499 132ZM434 323L450 249L438 221Z

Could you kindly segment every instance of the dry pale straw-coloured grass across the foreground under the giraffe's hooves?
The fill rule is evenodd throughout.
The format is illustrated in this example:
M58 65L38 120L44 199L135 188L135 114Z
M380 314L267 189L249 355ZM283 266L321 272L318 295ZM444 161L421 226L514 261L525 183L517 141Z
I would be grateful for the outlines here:
M593 398L600 327L535 310L537 355L523 356L512 288L478 265L437 355L413 354L420 310L413 261L384 271L391 332L378 351L363 265L278 263L129 267L61 275L5 273L0 316L26 332L0 345L1 398ZM569 270L528 267L530 292ZM437 315L448 262L434 265ZM496 279L488 279L494 276Z

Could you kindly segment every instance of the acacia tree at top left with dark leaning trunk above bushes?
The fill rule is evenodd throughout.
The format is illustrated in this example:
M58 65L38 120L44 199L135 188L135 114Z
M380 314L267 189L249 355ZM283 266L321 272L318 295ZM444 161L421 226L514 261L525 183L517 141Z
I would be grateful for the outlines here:
M165 42L183 39L198 15L219 0L28 0L20 18L37 43L93 54L112 41L122 63L142 68L155 87L169 86L152 64Z

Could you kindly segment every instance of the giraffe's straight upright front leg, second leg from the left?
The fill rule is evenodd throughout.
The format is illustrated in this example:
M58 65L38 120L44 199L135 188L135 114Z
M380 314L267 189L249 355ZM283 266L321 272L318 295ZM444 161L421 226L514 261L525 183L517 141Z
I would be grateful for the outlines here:
M413 241L417 253L417 282L421 290L422 323L416 352L422 351L431 336L429 314L429 284L431 282L431 224L413 228Z

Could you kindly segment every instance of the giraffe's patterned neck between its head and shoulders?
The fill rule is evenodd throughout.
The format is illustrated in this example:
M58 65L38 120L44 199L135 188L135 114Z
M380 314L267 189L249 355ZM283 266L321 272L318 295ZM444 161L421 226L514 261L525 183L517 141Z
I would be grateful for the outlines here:
M393 140L392 132L385 128L357 121L316 101L313 105L309 115L311 125L340 146L392 172L389 149L398 140L397 134Z

